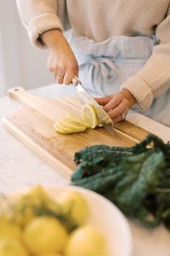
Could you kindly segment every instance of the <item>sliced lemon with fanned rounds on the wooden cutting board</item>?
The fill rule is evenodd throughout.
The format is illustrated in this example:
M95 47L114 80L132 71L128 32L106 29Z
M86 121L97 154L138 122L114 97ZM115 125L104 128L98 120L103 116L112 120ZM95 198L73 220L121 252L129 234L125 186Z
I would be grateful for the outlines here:
M109 116L97 106L86 104L81 108L81 120L75 119L73 116L63 117L59 120L54 128L61 134L70 134L73 132L84 132L86 128L94 129L99 125L99 116L107 124L110 123Z

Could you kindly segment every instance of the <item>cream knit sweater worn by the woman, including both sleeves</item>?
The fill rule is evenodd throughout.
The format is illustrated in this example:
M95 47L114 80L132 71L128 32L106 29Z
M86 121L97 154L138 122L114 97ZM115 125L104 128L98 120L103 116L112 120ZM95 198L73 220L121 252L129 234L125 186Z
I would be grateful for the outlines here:
M170 0L17 0L19 15L34 46L40 34L69 25L76 35L97 42L114 35L151 35L158 42L145 66L121 88L130 90L143 110L170 88Z

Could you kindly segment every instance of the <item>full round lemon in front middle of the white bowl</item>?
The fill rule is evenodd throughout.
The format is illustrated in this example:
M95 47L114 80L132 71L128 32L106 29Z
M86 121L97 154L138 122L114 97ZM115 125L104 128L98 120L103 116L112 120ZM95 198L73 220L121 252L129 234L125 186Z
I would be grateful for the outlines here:
M55 253L63 251L68 233L57 219L37 217L25 226L23 239L32 254Z

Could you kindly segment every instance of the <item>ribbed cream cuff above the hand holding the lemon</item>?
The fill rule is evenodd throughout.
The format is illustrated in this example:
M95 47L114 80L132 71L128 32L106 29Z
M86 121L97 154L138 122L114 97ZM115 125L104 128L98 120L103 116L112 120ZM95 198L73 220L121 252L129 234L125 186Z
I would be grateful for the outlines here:
M147 111L151 103L153 102L153 93L148 84L140 79L140 77L132 76L129 77L128 80L122 84L121 90L125 88L133 94L136 98L139 107L143 111Z

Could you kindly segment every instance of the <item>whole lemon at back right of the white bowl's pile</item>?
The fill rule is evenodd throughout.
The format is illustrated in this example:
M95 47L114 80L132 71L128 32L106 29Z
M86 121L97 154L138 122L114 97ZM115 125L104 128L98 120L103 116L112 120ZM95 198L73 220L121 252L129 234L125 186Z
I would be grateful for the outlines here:
M89 216L89 208L79 192L64 191L57 197L57 202L61 205L63 213L66 213L76 222L77 225L82 225L86 222Z

